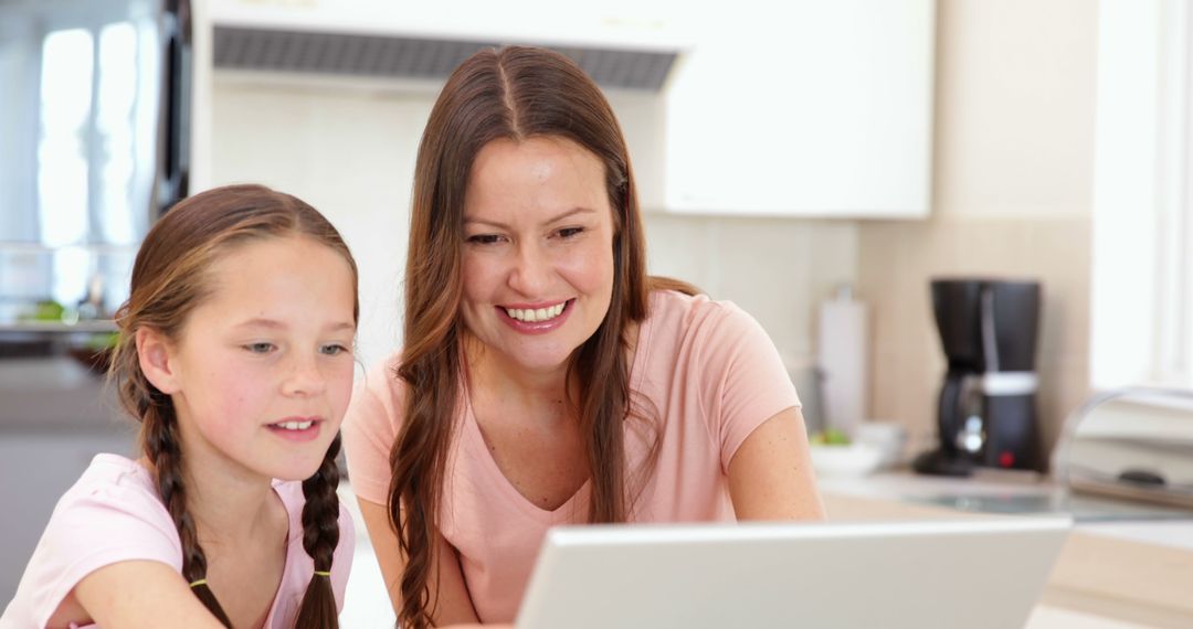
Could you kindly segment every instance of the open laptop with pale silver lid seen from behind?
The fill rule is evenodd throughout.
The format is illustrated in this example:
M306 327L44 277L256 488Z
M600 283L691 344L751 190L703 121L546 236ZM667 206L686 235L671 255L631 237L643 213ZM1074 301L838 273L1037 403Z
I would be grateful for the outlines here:
M1022 627L1073 521L558 527L518 629Z

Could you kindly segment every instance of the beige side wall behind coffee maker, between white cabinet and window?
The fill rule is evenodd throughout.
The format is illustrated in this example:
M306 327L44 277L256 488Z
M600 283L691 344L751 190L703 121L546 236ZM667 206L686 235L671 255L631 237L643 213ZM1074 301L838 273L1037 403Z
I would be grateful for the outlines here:
M859 288L874 311L871 411L921 444L945 369L928 281L1033 278L1051 448L1088 391L1096 2L941 0L933 212L861 223Z

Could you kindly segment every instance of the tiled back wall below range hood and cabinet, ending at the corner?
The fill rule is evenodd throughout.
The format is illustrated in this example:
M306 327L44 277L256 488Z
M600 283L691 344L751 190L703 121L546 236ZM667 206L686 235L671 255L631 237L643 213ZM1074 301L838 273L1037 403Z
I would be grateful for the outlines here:
M401 343L400 286L410 183L433 89L335 87L218 74L211 93L210 185L256 181L297 194L344 233L360 267L359 355ZM650 206L661 194L659 99L610 94ZM754 314L793 366L806 366L814 304L857 278L851 222L647 212L649 270L700 286Z

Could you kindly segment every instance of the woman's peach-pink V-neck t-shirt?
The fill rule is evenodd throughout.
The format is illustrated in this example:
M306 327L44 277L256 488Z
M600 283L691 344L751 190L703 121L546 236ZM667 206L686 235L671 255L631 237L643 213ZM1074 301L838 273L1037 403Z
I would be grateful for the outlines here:
M348 475L357 496L389 498L390 448L402 421L404 384L398 356L371 369L344 424ZM659 459L642 486L633 522L733 521L727 471L737 447L762 422L799 406L774 344L746 312L728 301L657 291L638 332L630 372L633 391L657 411ZM642 423L626 423L626 457L647 456ZM544 511L506 479L465 405L447 459L439 511L444 537L460 567L482 622L511 622L546 530L585 523L589 484L555 511Z

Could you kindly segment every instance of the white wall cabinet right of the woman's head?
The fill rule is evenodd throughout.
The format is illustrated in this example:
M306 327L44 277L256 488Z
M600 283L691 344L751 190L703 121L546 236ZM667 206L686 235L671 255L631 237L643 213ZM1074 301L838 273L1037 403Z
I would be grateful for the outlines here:
M928 214L934 0L738 0L666 92L668 212Z

